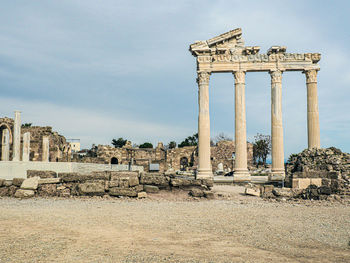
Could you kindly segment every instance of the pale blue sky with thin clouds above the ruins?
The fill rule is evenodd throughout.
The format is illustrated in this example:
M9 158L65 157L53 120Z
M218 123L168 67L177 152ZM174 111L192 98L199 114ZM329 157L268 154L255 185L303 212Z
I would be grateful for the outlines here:
M320 52L321 144L350 152L348 1L2 1L0 115L82 145L177 142L197 131L196 40L242 28L245 44ZM285 154L307 147L306 85L283 74ZM210 80L211 133L234 135L232 74ZM246 77L247 135L270 134L270 76Z

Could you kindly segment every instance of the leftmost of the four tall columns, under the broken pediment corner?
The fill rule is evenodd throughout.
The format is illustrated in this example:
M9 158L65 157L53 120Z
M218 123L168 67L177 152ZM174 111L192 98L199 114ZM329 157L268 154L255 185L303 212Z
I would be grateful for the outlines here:
M209 117L210 72L198 72L198 170L197 178L213 176L210 160L210 117Z

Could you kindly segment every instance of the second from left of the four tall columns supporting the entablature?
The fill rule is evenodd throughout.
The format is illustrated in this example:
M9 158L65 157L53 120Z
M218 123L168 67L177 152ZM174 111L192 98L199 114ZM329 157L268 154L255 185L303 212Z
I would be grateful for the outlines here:
M234 181L249 181L247 168L247 129L245 115L245 72L236 71L235 77L235 167Z

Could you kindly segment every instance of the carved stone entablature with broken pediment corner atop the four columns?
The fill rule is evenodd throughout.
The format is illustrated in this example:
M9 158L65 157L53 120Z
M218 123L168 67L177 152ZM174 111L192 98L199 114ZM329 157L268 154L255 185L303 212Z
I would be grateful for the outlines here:
M319 70L320 53L286 53L286 49L273 46L266 54L260 54L260 47L244 46L240 28L190 45L190 51L197 58L198 71Z

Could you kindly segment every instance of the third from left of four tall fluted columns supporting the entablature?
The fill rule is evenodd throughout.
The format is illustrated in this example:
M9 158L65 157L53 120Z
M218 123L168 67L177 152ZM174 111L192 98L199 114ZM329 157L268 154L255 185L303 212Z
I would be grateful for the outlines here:
M284 150L282 123L282 71L275 70L271 75L271 139L272 139L272 174L269 180L283 180Z

